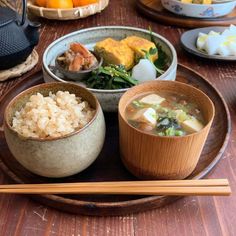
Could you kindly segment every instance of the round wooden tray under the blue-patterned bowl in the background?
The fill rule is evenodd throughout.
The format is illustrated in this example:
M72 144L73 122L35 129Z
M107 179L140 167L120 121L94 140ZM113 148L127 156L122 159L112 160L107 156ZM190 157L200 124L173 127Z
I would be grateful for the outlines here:
M175 15L162 7L160 0L137 0L138 9L154 20L180 27L229 26L236 24L236 8L229 15L211 19L200 19Z

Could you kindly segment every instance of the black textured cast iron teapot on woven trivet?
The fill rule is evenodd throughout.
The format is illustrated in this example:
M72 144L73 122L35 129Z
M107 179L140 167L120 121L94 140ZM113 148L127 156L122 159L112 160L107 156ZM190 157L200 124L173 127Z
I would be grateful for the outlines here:
M0 7L0 70L9 69L26 60L38 44L38 23L26 18L26 0L22 0L23 13Z

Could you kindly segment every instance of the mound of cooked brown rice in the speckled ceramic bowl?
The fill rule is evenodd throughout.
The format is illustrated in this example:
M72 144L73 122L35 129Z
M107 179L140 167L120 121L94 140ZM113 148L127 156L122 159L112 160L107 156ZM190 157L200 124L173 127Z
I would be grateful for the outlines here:
M37 93L15 113L12 127L24 137L60 137L84 127L94 113L87 101L67 91Z

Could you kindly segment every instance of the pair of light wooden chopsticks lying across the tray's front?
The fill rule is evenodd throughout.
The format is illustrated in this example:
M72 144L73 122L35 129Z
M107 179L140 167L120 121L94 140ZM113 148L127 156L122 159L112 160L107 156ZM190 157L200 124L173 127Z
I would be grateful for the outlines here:
M227 179L0 185L0 193L228 196Z

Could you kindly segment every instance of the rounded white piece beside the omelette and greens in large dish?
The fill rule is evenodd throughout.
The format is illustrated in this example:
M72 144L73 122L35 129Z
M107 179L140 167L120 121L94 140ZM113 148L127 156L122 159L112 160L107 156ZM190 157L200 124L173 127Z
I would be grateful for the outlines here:
M138 80L140 83L155 80L156 75L156 68L148 59L141 59L132 70L132 78Z

